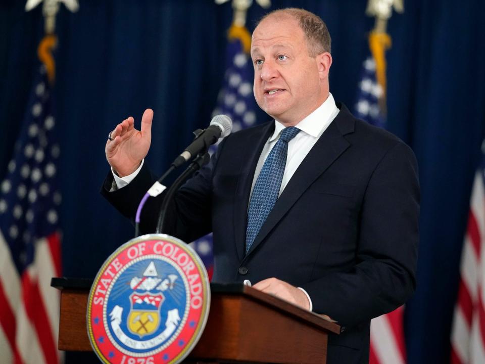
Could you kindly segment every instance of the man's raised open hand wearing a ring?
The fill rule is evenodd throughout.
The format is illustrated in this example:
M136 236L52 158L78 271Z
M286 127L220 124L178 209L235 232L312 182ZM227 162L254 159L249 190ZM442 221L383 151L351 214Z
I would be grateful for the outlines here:
M129 117L116 125L106 142L108 163L120 177L133 173L148 154L152 141L153 110L147 109L141 117L141 128L134 128L135 120Z

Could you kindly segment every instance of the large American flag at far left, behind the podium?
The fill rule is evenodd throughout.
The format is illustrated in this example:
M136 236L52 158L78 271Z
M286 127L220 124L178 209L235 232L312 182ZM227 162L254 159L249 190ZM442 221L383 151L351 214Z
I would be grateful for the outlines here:
M15 154L0 184L0 362L58 363L61 275L51 94L39 68Z

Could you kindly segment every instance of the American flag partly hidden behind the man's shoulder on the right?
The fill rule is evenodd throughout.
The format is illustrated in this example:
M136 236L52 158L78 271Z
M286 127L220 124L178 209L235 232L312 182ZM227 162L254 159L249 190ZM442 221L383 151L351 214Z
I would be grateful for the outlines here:
M367 57L362 67L355 115L369 124L385 127L385 98L382 86L376 79L376 64ZM370 364L404 364L406 345L403 328L404 306L381 315L370 323Z

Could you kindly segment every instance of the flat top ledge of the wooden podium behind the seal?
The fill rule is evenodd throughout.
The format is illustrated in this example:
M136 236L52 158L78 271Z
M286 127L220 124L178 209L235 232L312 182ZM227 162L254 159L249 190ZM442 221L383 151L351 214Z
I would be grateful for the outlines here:
M92 279L87 278L52 278L51 287L57 288L61 291L89 291L91 289L92 282ZM328 321L322 315L307 311L278 297L268 295L241 283L211 283L211 293L246 296L252 300L272 306L273 308L292 316L297 316L309 324L326 329L334 334L341 333L341 327L339 325Z

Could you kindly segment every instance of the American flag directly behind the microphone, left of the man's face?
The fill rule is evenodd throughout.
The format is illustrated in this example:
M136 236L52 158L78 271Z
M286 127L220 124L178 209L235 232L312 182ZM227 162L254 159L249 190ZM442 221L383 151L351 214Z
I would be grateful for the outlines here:
M229 29L229 41L226 48L224 83L217 98L213 116L225 114L232 119L232 132L246 128L256 122L256 102L253 97L253 65L248 54L248 41L251 35L245 27L232 25ZM249 43L250 44L250 43ZM217 146L211 147L211 154ZM214 256L212 252L212 234L192 243L201 256L212 277Z

